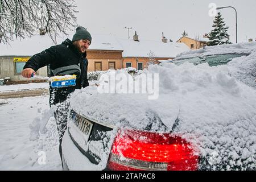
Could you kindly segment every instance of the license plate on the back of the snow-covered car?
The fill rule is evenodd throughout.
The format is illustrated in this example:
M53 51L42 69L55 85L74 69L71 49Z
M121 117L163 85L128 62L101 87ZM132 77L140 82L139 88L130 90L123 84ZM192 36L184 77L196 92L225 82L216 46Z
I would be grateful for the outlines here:
M92 131L93 123L88 119L81 117L81 115L76 115L77 127L85 134L86 142L90 137L90 131Z

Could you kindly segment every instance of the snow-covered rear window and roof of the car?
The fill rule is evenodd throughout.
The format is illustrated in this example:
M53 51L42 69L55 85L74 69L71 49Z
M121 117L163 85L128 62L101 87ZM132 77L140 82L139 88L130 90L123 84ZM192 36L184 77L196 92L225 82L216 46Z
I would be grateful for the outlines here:
M210 67L214 67L228 64L230 75L256 88L255 52L255 42L204 47L199 50L180 53L174 60L164 61L161 65L165 63L176 65L208 63Z

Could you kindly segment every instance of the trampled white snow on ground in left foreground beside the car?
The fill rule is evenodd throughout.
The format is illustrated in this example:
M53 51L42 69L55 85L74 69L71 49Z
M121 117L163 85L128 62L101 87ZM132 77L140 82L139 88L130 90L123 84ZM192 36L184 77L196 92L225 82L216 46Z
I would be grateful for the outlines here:
M0 100L0 170L62 169L59 136L48 100L48 96Z

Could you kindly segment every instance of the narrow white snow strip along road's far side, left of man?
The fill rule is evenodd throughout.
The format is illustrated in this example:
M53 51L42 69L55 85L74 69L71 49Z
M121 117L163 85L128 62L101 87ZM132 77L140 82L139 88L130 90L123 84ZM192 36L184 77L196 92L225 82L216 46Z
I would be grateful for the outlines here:
M9 92L17 90L27 90L27 89L42 89L49 88L48 82L43 83L30 83L30 84L17 84L17 85L1 85L0 92Z

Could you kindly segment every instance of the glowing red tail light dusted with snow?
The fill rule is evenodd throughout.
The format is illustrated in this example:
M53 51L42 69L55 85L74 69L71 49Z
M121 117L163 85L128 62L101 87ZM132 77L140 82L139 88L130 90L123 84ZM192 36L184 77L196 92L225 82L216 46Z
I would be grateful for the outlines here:
M185 139L145 131L125 130L114 140L111 170L197 170L199 156Z

